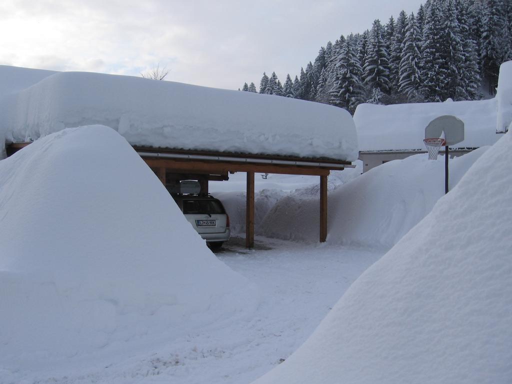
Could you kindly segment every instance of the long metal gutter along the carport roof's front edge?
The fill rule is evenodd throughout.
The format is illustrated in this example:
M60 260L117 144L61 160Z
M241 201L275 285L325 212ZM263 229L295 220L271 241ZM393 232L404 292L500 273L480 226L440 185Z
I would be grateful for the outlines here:
M352 165L352 164L317 163L317 162L312 162L312 161L251 159L251 158L246 158L246 157L185 155L185 154L168 154L168 153L159 153L159 152L137 152L137 153L140 156L144 156L144 157L156 157L156 158L162 158L162 159L228 161L228 162L237 162L237 163L295 165L295 166L310 166L310 167L322 167L322 168L355 168L355 165Z

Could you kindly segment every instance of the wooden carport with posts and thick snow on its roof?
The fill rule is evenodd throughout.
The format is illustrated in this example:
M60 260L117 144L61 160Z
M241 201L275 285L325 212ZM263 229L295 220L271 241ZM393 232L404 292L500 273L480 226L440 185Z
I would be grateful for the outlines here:
M327 176L358 156L352 117L330 105L132 76L0 66L4 81L0 151L4 142L10 154L68 127L101 124L123 136L165 185L199 180L207 193L209 180L247 172L248 212L255 172L320 176L321 241Z

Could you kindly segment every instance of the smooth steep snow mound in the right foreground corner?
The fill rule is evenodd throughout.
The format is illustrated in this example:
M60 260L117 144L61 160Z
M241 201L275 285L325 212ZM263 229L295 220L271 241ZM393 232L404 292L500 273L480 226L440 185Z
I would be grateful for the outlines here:
M512 136L349 288L269 383L508 383Z

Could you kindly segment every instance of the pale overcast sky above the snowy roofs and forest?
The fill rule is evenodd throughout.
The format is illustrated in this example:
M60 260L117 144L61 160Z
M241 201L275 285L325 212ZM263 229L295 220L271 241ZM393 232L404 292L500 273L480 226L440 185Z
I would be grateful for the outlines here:
M339 35L423 0L2 0L0 65L140 76L238 89L263 71L282 82Z

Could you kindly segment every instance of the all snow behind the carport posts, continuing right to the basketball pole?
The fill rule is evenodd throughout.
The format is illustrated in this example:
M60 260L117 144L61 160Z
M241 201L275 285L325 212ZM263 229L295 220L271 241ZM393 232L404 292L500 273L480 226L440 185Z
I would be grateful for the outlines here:
M450 189L487 148L450 159ZM389 249L444 195L444 156L432 161L428 154L418 154L379 165L355 178L359 173L360 167L329 176L329 244ZM277 179L281 184L273 181ZM267 180L255 180L257 234L307 243L318 241L318 177L269 175ZM230 187L240 189L225 191ZM224 203L232 233L244 233L245 181L230 180L222 189L216 192L212 186L212 194Z

